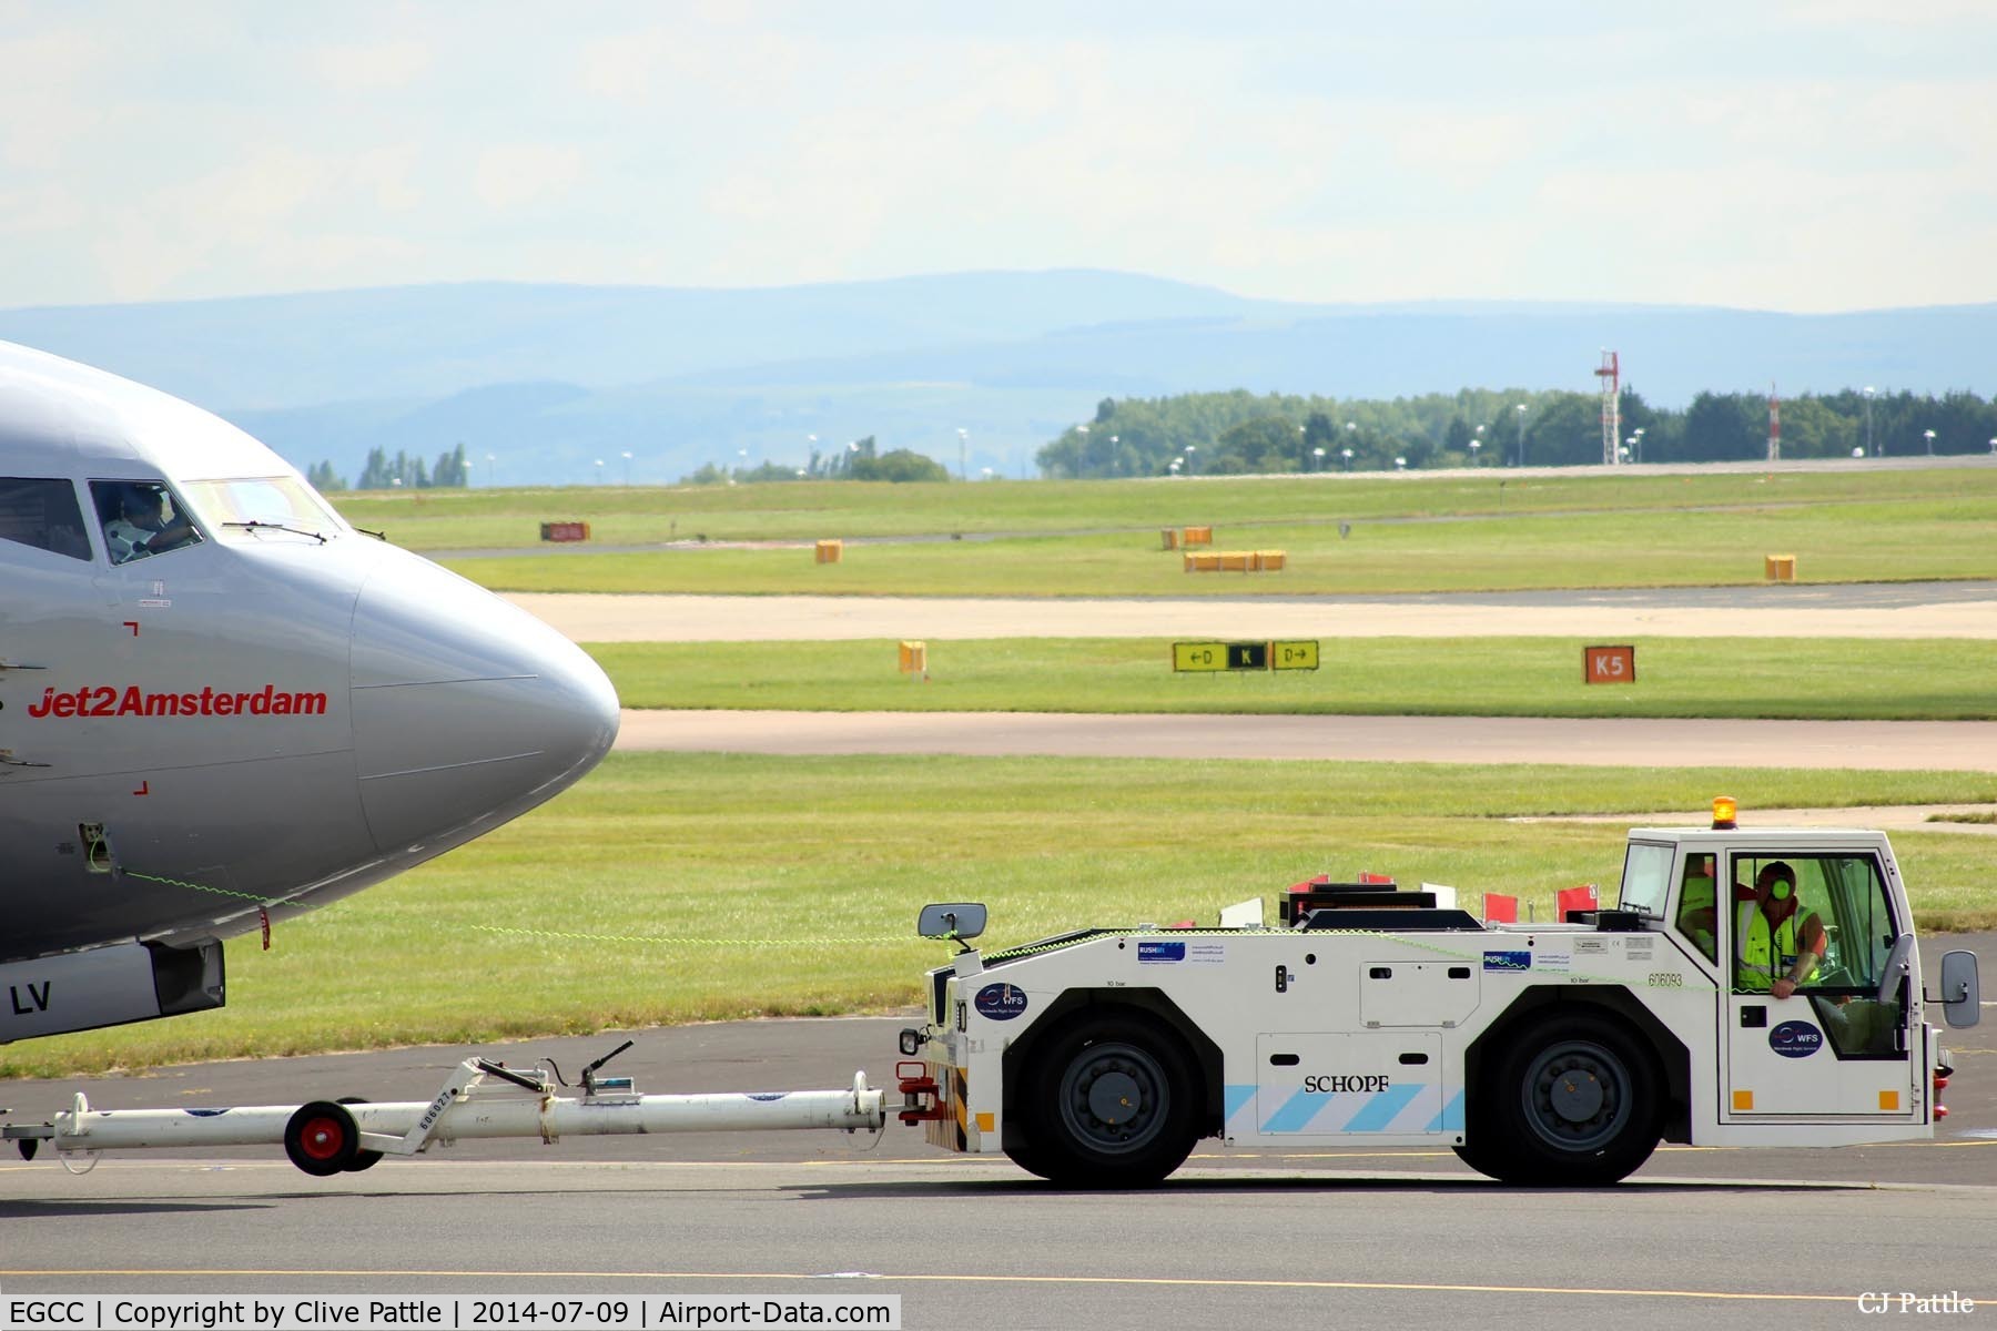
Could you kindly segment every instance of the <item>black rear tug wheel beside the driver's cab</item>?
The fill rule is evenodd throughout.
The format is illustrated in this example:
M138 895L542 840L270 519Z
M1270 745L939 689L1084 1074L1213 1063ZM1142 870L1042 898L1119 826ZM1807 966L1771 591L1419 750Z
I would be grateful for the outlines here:
M1576 1014L1530 1026L1478 1088L1474 1169L1528 1187L1618 1183L1658 1149L1664 1076L1618 1022Z

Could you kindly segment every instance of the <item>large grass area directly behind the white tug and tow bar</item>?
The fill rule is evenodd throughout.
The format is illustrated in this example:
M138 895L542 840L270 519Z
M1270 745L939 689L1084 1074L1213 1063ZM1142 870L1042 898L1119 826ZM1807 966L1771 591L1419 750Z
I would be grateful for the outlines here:
M1997 800L1997 776L1556 766L613 754L575 790L395 882L230 944L230 1006L0 1050L0 1074L475 1042L911 1004L945 950L1076 924L1210 922L1316 872L1446 882L1548 918L1612 888L1624 828L1516 816ZM1897 838L1923 928L1985 928L1987 844Z

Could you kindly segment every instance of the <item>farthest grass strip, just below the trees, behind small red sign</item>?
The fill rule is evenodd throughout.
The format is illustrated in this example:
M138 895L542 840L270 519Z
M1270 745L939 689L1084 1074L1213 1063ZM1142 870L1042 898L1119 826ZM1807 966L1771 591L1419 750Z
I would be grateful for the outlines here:
M587 521L601 545L659 541L813 541L949 533L1074 535L1162 527L1298 527L1382 517L1695 511L1783 505L1899 505L1997 499L1997 467L1775 471L1707 475L1484 477L1318 475L1196 481L1034 481L975 485L571 487L365 491L333 495L347 521L397 545L539 549L543 521Z

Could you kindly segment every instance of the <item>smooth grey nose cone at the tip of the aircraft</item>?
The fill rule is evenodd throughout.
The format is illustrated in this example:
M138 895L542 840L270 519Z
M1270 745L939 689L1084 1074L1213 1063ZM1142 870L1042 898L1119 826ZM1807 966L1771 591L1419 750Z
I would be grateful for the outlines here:
M379 850L435 854L593 768L617 738L617 692L525 611L407 551L381 555L353 611L361 806Z

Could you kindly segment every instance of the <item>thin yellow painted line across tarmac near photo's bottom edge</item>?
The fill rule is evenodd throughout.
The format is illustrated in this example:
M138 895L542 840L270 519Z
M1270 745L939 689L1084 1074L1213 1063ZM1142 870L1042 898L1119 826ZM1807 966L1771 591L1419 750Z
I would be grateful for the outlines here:
M314 1267L116 1267L116 1269L0 1269L0 1279L559 1279L559 1281L823 1281L857 1279L883 1285L1082 1285L1082 1287L1162 1287L1162 1289L1350 1289L1400 1293L1496 1293L1568 1295L1576 1299L1711 1299L1719 1303L1855 1303L1857 1293L1791 1293L1733 1289L1618 1289L1596 1285L1464 1285L1426 1281L1312 1281L1240 1279L1200 1275L977 1275L959 1271L877 1273L877 1271L391 1271ZM1977 1295L1985 1303L1987 1295Z

